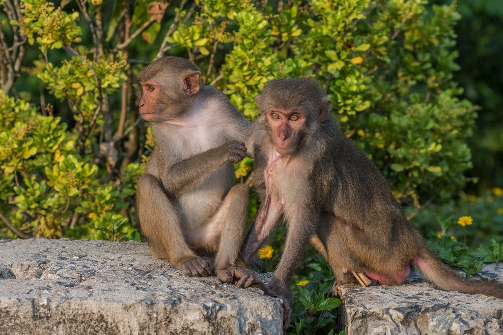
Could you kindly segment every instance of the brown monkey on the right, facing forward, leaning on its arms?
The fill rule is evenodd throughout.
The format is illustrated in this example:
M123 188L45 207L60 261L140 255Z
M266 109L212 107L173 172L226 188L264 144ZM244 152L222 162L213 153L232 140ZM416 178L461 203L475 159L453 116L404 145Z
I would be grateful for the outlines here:
M249 261L283 217L288 232L269 293L283 299L290 323L290 283L309 241L330 264L339 285L370 277L398 285L409 264L436 287L503 298L503 285L461 278L439 261L410 225L386 180L344 136L331 101L314 79L267 83L257 104L253 181L261 206L242 255Z

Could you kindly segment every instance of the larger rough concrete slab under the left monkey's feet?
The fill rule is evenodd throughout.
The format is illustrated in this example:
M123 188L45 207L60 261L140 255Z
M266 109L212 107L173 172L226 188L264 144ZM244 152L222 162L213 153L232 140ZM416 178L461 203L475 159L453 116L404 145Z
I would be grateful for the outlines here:
M280 334L282 312L257 288L184 276L146 243L0 239L0 334Z

